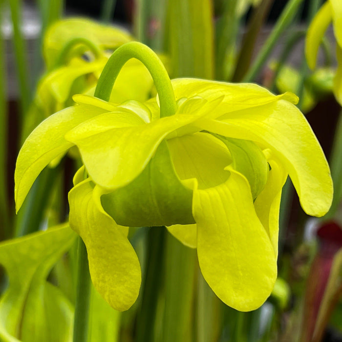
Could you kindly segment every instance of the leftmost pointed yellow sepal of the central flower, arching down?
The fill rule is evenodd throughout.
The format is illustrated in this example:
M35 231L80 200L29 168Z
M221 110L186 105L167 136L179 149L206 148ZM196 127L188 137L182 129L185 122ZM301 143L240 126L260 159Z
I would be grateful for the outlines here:
M93 106L69 107L48 117L28 136L19 152L14 174L17 212L43 168L73 145L64 139L64 134L103 112L104 109Z

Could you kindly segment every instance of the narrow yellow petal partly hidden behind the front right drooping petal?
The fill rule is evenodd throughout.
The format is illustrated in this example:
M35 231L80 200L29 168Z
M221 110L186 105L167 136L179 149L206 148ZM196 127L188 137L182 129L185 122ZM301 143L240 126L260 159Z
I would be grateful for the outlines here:
M271 153L267 158L271 166L267 183L261 193L256 197L254 207L256 214L270 236L276 257L278 257L279 207L281 189L285 184L287 173L277 158Z

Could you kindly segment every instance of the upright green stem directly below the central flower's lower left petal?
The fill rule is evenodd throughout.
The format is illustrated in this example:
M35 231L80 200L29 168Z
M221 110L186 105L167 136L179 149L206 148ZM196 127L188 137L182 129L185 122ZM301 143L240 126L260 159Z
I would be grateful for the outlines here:
M74 342L87 342L91 280L88 256L83 240L78 243L77 293L74 319Z

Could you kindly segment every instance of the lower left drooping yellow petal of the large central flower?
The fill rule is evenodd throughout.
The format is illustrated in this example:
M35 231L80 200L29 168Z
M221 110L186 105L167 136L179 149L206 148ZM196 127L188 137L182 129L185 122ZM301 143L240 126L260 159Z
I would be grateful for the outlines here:
M96 203L89 179L69 192L70 227L85 242L91 280L116 310L127 310L137 299L141 283L138 257L125 229Z

